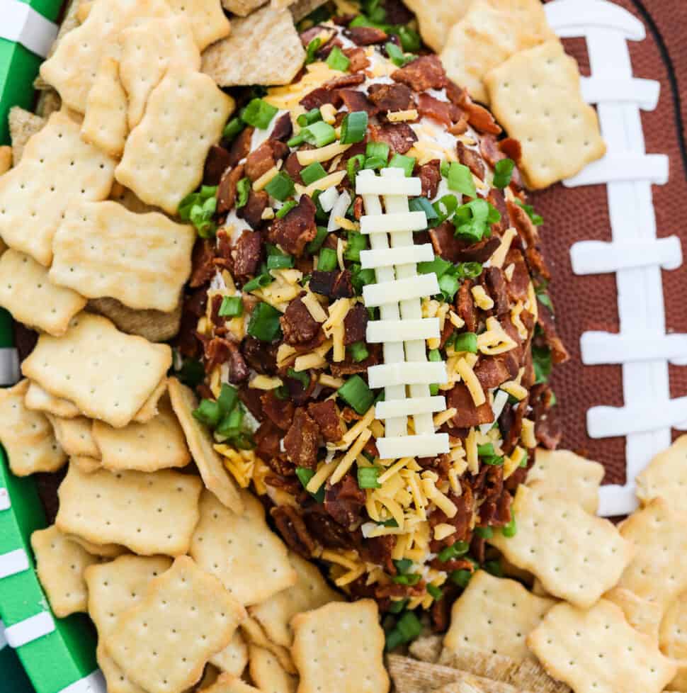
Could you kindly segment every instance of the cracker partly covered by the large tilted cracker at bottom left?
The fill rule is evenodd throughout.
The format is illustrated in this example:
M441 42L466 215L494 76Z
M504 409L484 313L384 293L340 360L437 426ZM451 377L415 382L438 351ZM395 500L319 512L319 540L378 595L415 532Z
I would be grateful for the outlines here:
M142 693L118 667L103 646L119 616L138 604L148 583L171 566L166 556L121 556L110 563L88 568L89 615L98 630L96 658L108 684L108 693Z

